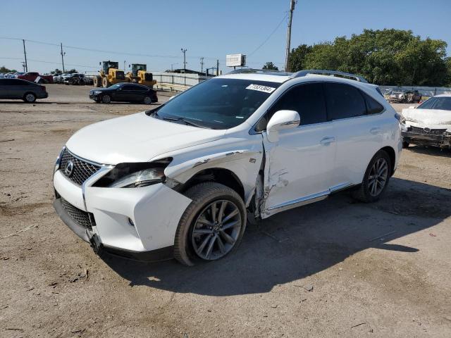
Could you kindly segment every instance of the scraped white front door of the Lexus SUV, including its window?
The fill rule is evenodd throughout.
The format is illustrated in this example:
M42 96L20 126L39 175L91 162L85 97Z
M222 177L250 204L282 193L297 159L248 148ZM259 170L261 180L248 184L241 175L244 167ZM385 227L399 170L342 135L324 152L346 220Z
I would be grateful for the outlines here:
M325 199L332 184L336 140L327 119L323 85L310 82L288 89L266 119L280 110L297 111L300 123L280 130L273 143L263 132L266 200L262 218Z

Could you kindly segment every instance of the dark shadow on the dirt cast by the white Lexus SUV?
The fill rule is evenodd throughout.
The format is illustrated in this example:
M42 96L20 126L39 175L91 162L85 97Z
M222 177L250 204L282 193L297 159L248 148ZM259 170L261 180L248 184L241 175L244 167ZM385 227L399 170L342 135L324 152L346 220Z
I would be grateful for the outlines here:
M249 225L240 248L221 261L187 268L175 261L138 263L105 256L130 281L171 292L230 296L270 291L368 248L415 254L388 244L451 215L451 190L392 178L381 201L355 203L346 192ZM412 217L414 216L414 217Z

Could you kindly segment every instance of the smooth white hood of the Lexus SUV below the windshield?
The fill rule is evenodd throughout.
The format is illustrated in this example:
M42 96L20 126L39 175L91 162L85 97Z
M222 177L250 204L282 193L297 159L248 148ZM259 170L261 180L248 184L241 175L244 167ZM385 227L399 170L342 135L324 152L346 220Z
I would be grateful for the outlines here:
M94 123L66 143L75 155L104 164L147 162L155 156L220 139L226 130L210 130L158 120L144 112Z

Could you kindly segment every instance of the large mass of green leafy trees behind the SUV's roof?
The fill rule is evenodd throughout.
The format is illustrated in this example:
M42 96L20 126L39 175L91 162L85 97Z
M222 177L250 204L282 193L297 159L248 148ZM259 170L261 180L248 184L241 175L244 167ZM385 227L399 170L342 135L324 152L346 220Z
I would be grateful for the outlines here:
M450 83L446 42L421 39L411 30L364 30L333 42L292 49L290 69L340 70L371 83L443 86Z

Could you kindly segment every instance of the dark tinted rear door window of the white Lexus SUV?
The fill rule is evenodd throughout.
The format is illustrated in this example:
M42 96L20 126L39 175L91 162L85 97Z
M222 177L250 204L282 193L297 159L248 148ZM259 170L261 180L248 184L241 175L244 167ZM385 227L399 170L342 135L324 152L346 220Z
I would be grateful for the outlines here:
M366 115L366 104L359 89L349 84L325 84L326 102L329 120L355 118Z

